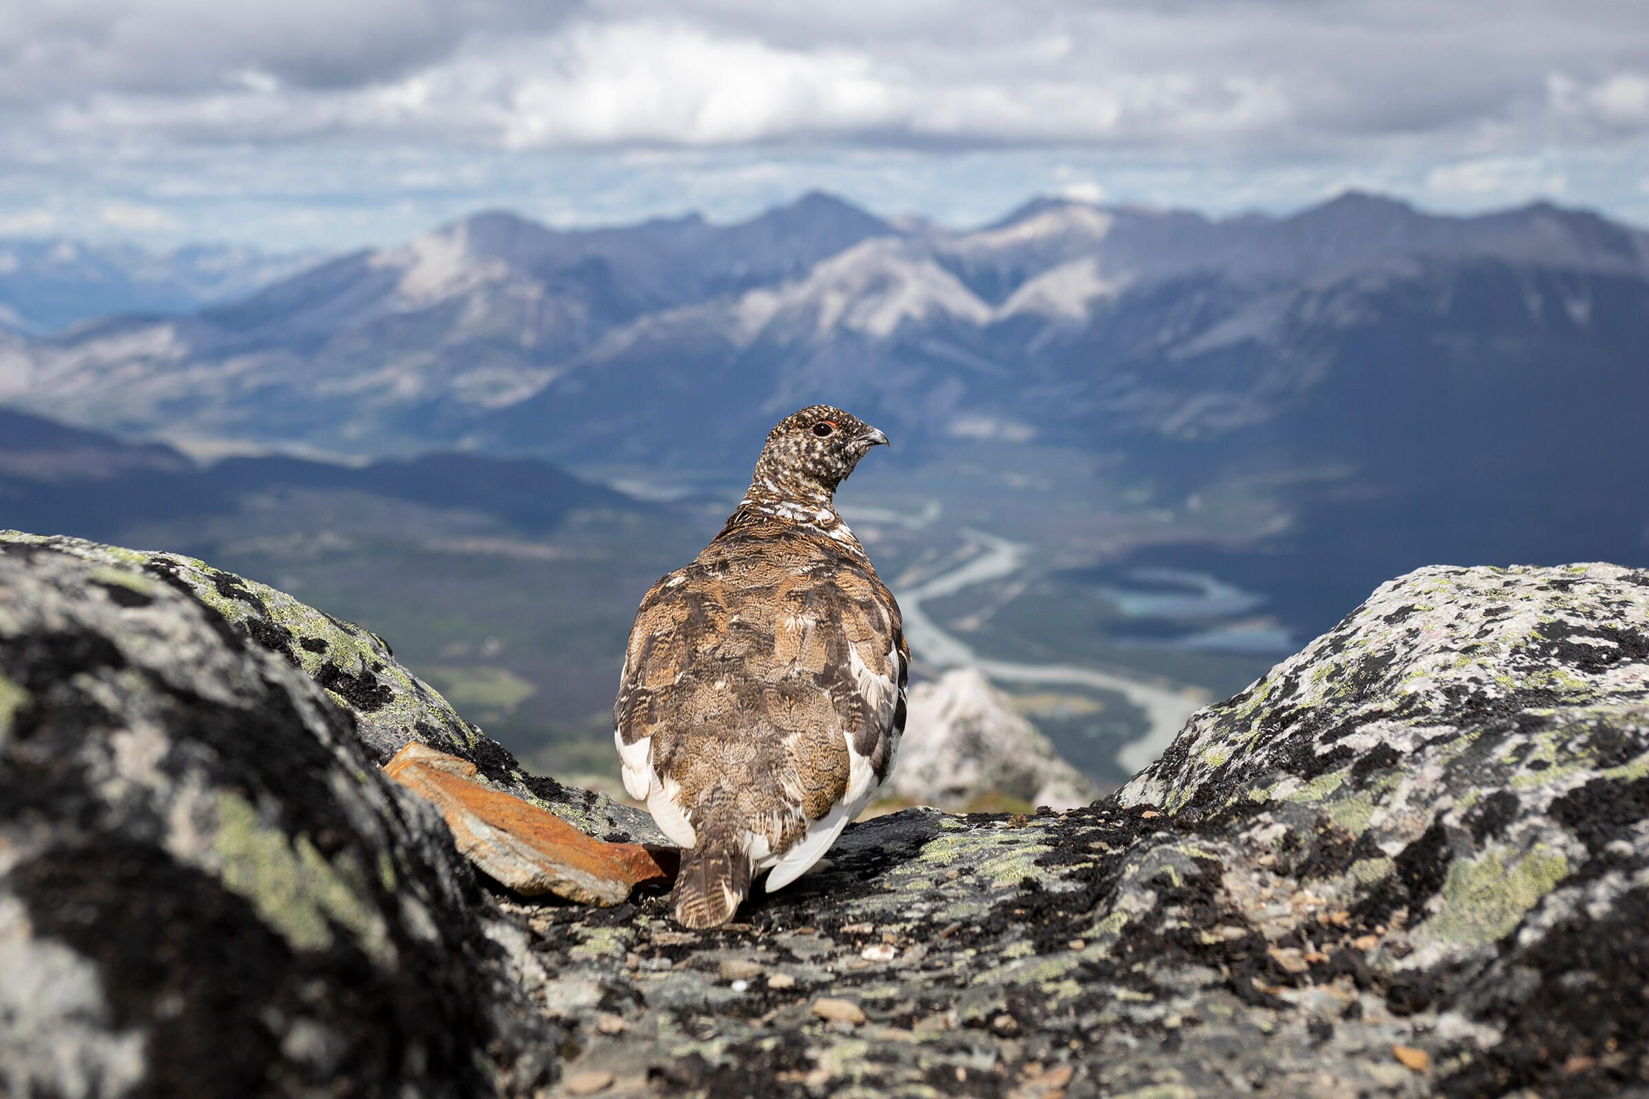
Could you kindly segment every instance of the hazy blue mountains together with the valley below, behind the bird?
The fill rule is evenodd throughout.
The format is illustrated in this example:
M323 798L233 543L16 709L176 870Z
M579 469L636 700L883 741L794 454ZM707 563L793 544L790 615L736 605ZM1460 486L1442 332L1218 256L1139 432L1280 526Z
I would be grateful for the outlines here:
M925 598L956 643L1219 697L1421 565L1649 562L1644 348L1649 234L1552 204L486 213L203 308L0 331L0 526L303 592L594 773L640 593L800 405L894 438L843 503L897 592L966 573L978 532L1019 545ZM1146 713L1060 682L1014 704L1126 778Z

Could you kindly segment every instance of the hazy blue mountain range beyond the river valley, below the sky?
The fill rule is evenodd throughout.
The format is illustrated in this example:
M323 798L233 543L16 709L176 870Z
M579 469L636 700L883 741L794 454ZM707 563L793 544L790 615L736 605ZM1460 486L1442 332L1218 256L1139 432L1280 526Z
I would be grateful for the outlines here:
M828 399L905 461L1057 445L1174 522L1270 509L1260 540L1172 527L1141 560L1270 592L1309 636L1425 562L1649 559L1644 346L1649 234L1550 204L1039 199L956 232L810 194L732 226L477 214L231 305L12 338L0 402L150 438L732 470L775 409Z

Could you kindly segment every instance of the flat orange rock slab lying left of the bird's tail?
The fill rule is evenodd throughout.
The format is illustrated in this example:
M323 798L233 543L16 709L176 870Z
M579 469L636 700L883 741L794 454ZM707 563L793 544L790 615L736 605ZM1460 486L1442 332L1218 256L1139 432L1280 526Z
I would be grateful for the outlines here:
M618 905L641 882L668 885L676 877L673 847L592 839L552 812L482 786L473 763L429 745L407 745L384 773L435 802L458 850L518 893Z

